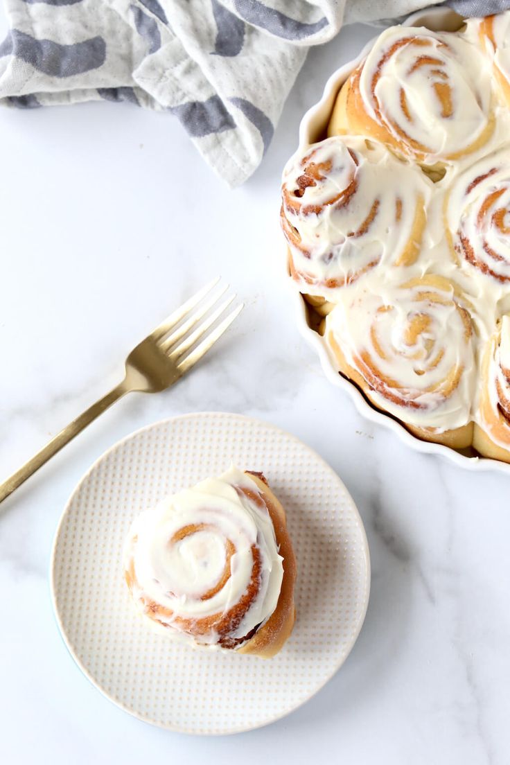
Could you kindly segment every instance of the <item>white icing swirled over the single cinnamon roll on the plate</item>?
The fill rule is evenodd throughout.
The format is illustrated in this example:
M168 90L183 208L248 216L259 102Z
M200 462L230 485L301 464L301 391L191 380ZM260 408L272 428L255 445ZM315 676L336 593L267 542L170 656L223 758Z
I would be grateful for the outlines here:
M236 607L252 581L254 545L260 557L256 595L229 638L241 640L273 613L283 578L274 527L264 503L239 489L260 496L255 482L232 466L218 478L167 497L133 522L125 571L128 576L134 572L130 588L135 604L159 632L183 636L193 620ZM161 607L157 620L151 604ZM208 628L193 637L196 643L216 646L221 636Z

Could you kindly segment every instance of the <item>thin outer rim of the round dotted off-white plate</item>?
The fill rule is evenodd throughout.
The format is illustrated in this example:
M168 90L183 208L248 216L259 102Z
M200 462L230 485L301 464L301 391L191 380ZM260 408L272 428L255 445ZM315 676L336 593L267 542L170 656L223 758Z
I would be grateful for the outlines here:
M333 474L333 476L336 478L336 480L339 481L340 485L343 487L343 491L347 497L348 502L351 505L351 509L353 511L353 514L358 522L358 528L361 535L361 542L362 542L362 558L365 563L365 597L362 602L361 610L359 611L358 620L356 621L356 627L355 630L352 632L351 640L349 641L349 646L346 649L346 653L343 655L341 660L339 662L336 662L336 665L334 666L334 669L330 674L326 676L326 679L323 680L323 682L320 683L320 685L317 686L313 690L313 692L310 693L310 695L307 695L306 698L302 699L297 705L292 706L290 709L286 709L282 714L279 714L278 716L271 716L271 718L268 718L265 721L261 721L258 724L255 725L242 725L239 726L239 728L232 728L229 731L195 731L187 728L180 727L176 724L161 724L158 723L155 720L151 720L150 718L145 717L144 715L141 715L138 711L135 711L131 708L128 708L123 702L115 699L110 695L104 688L102 688L101 685L99 685L98 682L96 682L96 679L93 678L93 675L89 672L89 669L83 664L79 656L77 656L75 650L73 649L73 646L70 643L70 640L68 639L67 632L65 630L63 620L60 617L59 609L57 606L57 588L55 585L55 568L56 568L56 558L57 558L57 544L60 537L60 532L63 529L63 524L67 518L67 514L70 511L70 506L73 503L73 500L76 496L76 494L80 491L80 488L82 487L83 482L89 477L89 475L93 472L93 470L96 469L96 467L106 458L109 454L111 454L112 451L114 451L116 448L121 447L123 444L125 444L126 441L131 440L132 438L135 438L136 436L140 435L141 433L151 430L151 428L158 427L160 425L167 425L170 422L174 422L176 420L183 420L183 419L190 419L190 418L200 418L204 415L216 415L216 416L228 416L233 418L241 419L245 422L251 422L255 423L256 425L265 425L265 427L270 428L271 430L277 431L281 433L282 435L286 436L287 438L290 438L292 441L297 441L297 443L303 445L305 448L307 448L308 451L311 451L314 455L314 457L317 458L320 463L323 464L323 467L326 467L326 470L329 470L330 473ZM119 441L115 441L114 444L109 446L102 454L99 455L99 457L96 457L96 460L93 461L93 464L91 464L88 469L83 473L83 475L80 477L80 479L76 482L75 487L73 488L72 492L70 493L69 498L67 499L67 502L63 506L62 513L60 514L60 518L58 519L57 526L55 528L54 532L54 539L51 545L51 553L50 553L50 563L49 563L49 584L50 584L50 599L51 599L51 605L53 609L53 615L54 619L57 623L57 627L60 633L60 639L62 640L64 646L67 648L67 652L70 654L71 658L75 662L78 669L80 669L80 672L86 677L86 679L89 681L91 685L101 693L102 696L104 696L111 704L115 705L116 707L122 709L122 711L125 711L128 715L131 715L132 717L146 723L149 725L152 725L154 728L161 728L161 730L164 731L171 731L174 733L180 733L180 734L186 734L186 735L195 735L200 737L207 737L207 736L229 736L229 735L235 735L238 733L246 733L249 731L255 731L260 728L265 728L267 725L273 724L277 722L278 720L281 720L287 715L291 715L292 712L296 711L300 707L302 707L304 704L310 701L313 696L317 695L324 686L330 682L331 679L336 675L336 672L341 669L343 664L346 662L346 659L348 659L349 654L352 652L353 647L356 645L356 642L359 638L359 633L361 633L363 624L365 623L365 617L367 614L367 610L369 607L369 600L370 600L370 591L371 591L371 585L372 585L372 564L370 559L370 549L369 549L369 542L366 535L365 525L363 523L362 516L359 513L359 509L356 506L355 501L352 499L351 493L347 489L345 483L343 483L343 480L339 475L336 473L336 470L333 470L333 467L322 457L322 455L318 454L315 449L310 447L308 444L306 444L304 441L302 441L300 438L297 438L296 435L293 433L289 433L288 431L285 431L283 428L280 428L279 425L274 425L272 422L267 422L266 420L262 420L256 417L252 417L251 415L243 415L239 414L238 412L224 412L224 411L200 411L200 412L186 412L182 415L171 415L170 417L165 417L159 420L156 420L155 422L148 423L148 425L142 425L141 428L137 428L135 431L132 431L131 433L128 433L127 435L123 436L122 438L119 438Z

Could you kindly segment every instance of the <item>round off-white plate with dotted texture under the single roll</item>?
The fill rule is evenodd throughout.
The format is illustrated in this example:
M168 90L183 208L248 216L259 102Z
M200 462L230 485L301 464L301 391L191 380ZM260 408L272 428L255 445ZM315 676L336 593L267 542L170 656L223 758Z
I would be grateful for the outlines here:
M294 543L297 620L274 659L193 649L152 633L123 578L132 519L231 461L264 472ZM287 715L343 664L365 618L369 549L346 487L315 452L265 422L206 412L150 425L100 457L60 520L51 588L71 655L112 702L174 731L236 733Z

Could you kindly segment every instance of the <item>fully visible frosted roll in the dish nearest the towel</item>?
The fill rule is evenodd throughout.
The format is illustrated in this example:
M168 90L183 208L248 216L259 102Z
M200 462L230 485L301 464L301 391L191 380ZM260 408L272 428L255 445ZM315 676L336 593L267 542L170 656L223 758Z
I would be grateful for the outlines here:
M343 85L328 135L377 138L426 165L463 157L492 133L487 69L458 35L388 28Z

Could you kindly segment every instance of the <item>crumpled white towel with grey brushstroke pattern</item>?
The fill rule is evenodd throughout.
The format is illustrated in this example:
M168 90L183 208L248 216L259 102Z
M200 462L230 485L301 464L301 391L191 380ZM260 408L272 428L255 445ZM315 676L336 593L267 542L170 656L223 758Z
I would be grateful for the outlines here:
M311 45L427 0L5 0L0 103L92 99L172 112L231 186L265 154ZM449 0L483 15L510 0Z

